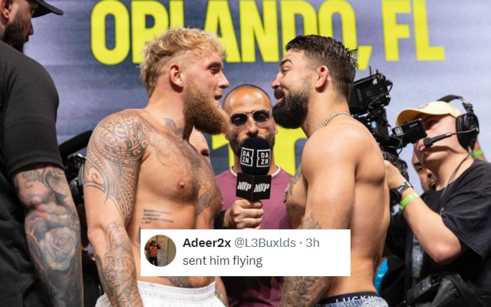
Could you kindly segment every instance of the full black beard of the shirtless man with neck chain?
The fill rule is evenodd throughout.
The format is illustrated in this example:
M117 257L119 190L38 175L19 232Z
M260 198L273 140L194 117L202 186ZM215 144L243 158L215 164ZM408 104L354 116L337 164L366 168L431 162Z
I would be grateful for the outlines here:
M283 128L299 128L307 115L307 104L310 96L308 85L304 84L303 89L291 91L288 95L285 95L285 92L277 87L274 89L274 96L283 97L283 100L273 107L274 121Z

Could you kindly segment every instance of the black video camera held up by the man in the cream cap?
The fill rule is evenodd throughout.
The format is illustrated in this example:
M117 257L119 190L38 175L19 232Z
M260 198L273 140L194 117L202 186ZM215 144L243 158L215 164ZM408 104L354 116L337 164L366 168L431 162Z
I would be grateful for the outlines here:
M426 137L421 119L413 120L392 129L385 108L390 103L392 82L382 73L370 69L370 76L355 81L350 94L349 108L352 116L365 125L379 143L383 158L392 163L409 181L408 165L399 153L409 143Z

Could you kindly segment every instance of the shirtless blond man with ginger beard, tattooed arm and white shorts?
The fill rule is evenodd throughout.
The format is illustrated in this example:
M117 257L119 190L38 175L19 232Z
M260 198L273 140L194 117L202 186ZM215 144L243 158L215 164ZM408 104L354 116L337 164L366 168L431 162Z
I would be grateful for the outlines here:
M220 191L210 163L189 137L193 126L210 134L227 129L218 103L229 85L222 58L215 35L167 30L147 43L140 66L147 107L111 114L95 128L84 195L88 236L106 292L97 306L226 302L215 277L141 277L139 235L140 229L213 228Z

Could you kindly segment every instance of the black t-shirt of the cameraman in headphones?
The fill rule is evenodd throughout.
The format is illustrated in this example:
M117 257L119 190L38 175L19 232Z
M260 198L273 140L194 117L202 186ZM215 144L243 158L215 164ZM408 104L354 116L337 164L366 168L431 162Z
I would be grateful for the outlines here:
M482 297L490 299L491 294L491 164L475 160L447 190L428 191L421 195L425 203L438 212L447 226L465 246L464 253L452 263L442 266L423 252L419 268L419 279L441 272L450 271L461 275ZM443 195L442 195L443 194ZM399 216L400 218L401 216ZM406 262L406 289L414 283L414 241L410 229L401 238L401 223L398 217L391 219L387 244L398 250ZM398 231L399 229L399 231ZM401 241L405 251L400 251ZM489 293L484 293L488 291Z

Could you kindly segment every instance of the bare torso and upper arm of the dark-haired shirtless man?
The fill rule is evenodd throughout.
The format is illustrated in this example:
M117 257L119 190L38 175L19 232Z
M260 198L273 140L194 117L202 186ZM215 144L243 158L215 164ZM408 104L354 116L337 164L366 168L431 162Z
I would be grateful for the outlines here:
M351 277L333 278L322 297L375 291L390 213L382 152L370 132L347 116L316 131L286 195L295 228L351 229Z

